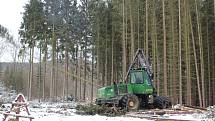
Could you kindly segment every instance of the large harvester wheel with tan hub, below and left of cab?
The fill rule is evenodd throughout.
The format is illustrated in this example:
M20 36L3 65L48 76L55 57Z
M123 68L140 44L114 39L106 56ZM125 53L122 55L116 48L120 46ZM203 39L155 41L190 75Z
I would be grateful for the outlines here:
M128 110L138 110L140 101L136 95L124 95L120 100L120 106Z

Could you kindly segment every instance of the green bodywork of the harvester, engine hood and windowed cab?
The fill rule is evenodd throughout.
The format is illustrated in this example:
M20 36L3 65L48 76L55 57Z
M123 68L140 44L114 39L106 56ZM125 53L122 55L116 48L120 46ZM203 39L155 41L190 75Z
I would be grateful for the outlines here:
M118 95L115 90L116 86L118 88ZM109 99L127 93L149 95L153 93L152 81L145 70L131 70L128 83L118 83L117 85L102 87L98 89L97 97L100 99Z

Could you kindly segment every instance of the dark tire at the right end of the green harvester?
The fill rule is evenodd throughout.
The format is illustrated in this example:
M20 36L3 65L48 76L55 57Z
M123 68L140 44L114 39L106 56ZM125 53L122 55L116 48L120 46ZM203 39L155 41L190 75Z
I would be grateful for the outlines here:
M170 106L170 101L166 97L156 96L154 99L154 107L159 109L165 109Z

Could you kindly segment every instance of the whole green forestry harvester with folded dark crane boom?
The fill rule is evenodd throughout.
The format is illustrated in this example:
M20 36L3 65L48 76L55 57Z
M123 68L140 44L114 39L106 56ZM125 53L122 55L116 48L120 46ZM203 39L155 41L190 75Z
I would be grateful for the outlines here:
M143 50L138 49L123 82L102 87L97 92L97 105L112 105L137 110L141 108L168 108L167 97L158 96L153 86L153 72Z

